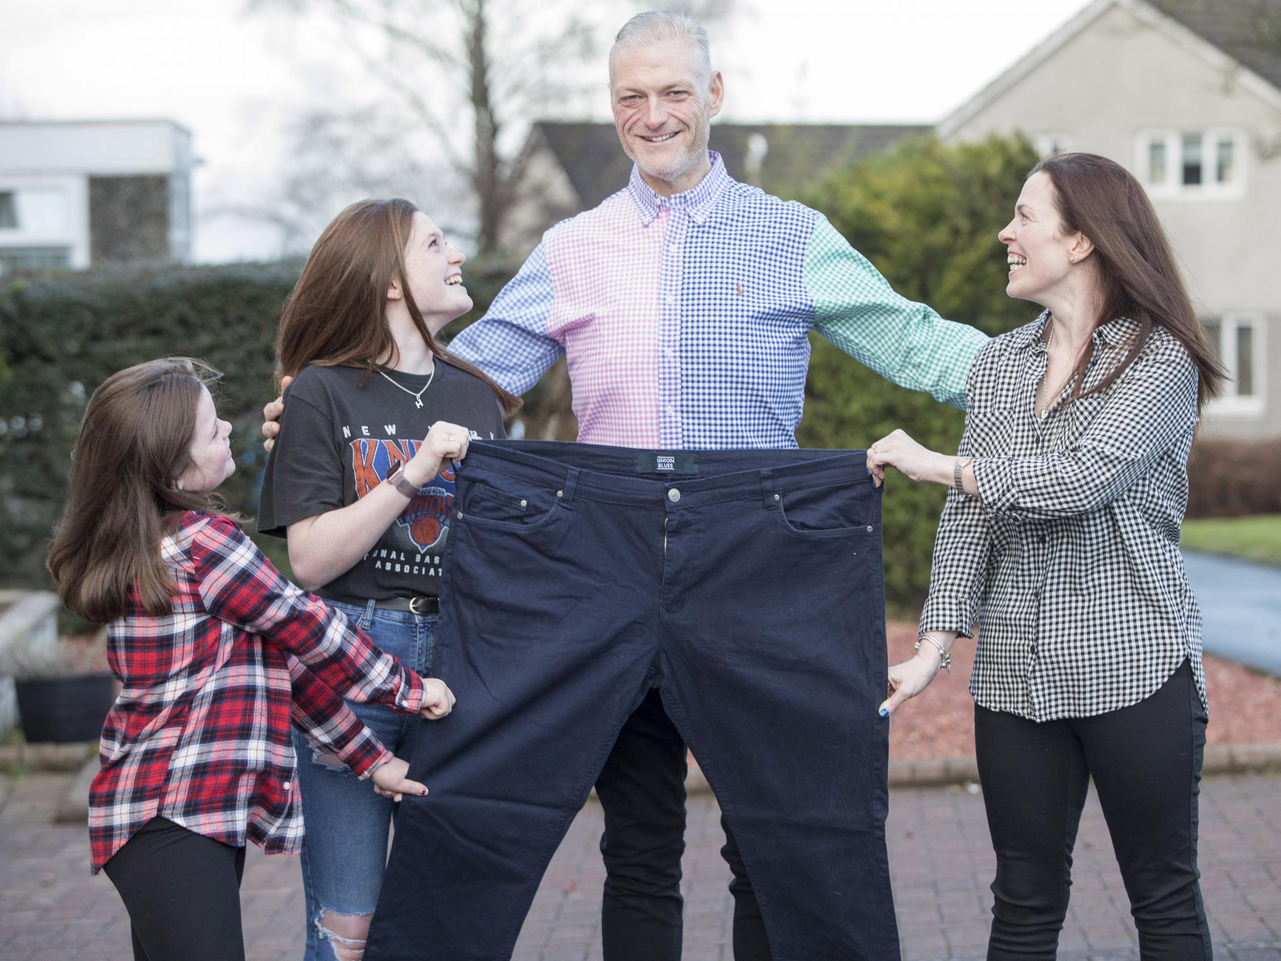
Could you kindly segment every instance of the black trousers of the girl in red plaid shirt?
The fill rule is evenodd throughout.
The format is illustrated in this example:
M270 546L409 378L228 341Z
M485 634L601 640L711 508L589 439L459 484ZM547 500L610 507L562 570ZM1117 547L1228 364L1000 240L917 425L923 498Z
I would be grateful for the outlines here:
M152 817L102 870L129 912L135 961L243 961L245 848Z

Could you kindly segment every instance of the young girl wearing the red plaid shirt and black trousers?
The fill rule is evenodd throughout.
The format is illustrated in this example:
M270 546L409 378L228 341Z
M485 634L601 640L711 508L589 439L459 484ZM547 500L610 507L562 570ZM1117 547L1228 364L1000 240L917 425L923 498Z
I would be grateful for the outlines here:
M291 721L400 800L427 788L338 694L424 718L453 703L282 578L219 513L211 492L234 461L211 373L168 357L94 392L49 555L63 604L108 624L124 686L102 728L90 841L94 873L106 870L129 911L137 961L245 957L246 839L268 853L302 843Z

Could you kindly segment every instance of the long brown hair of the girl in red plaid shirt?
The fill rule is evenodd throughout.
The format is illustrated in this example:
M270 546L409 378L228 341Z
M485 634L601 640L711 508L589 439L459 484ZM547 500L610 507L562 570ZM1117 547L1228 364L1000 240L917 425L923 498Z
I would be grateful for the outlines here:
M218 377L200 360L161 357L111 374L90 397L46 560L63 605L85 620L123 616L133 584L147 614L169 612L177 586L161 538L183 511L227 513L211 493L175 487L201 386Z

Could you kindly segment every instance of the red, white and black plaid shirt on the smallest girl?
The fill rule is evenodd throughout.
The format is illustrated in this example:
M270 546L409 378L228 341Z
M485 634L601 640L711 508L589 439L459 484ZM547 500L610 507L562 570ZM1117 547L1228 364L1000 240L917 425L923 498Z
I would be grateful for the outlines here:
M188 511L161 554L178 584L172 612L146 614L135 589L108 627L124 689L90 788L94 873L158 815L225 844L296 852L290 723L365 778L392 755L342 698L414 712L423 682L227 518Z

